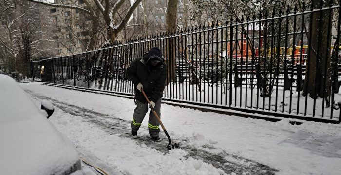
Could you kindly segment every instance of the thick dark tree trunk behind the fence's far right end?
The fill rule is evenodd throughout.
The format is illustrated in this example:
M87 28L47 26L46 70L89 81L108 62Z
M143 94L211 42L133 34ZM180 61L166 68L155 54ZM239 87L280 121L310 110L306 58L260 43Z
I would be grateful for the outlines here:
M318 1L318 2L317 2ZM320 6L322 0L315 0ZM311 37L307 67L305 73L304 94L312 98L328 97L330 94L330 45L331 35L328 35L329 11L320 11L312 14L308 36ZM331 26L331 25L330 25ZM324 83L326 85L324 85Z

